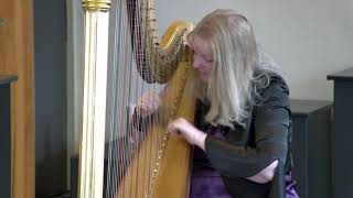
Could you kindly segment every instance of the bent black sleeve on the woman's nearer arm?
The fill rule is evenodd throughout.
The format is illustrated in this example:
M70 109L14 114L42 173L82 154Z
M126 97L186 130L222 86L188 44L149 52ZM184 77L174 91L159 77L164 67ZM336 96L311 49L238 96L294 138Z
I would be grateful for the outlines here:
M271 81L256 107L255 147L235 146L207 135L205 150L215 169L227 177L250 177L275 160L285 164L290 122L288 87L284 80Z

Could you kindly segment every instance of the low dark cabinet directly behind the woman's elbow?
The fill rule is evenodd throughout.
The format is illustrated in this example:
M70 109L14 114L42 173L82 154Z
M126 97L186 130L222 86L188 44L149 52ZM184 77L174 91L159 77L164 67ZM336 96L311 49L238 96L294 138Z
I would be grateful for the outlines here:
M300 198L331 198L332 102L291 100L293 176Z

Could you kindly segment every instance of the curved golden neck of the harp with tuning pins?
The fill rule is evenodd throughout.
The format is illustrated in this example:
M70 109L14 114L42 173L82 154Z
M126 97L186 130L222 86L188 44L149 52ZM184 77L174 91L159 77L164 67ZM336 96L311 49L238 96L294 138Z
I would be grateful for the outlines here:
M186 48L184 38L193 25L186 21L173 22L160 40L156 29L154 0L145 1L141 7L141 14L138 14L138 19L133 19L140 21L141 31L132 32L141 34L133 37L145 45L145 50L137 51L145 51L146 59L146 65L140 66L139 72L141 74L148 72L148 76L141 75L148 82L165 84L174 74L178 62L183 59Z

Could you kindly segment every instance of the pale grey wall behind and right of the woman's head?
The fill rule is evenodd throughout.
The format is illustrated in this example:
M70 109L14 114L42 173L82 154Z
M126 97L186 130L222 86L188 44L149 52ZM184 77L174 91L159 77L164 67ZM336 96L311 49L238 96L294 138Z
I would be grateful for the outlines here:
M196 23L216 8L253 23L266 53L287 73L290 97L333 100L327 75L353 67L353 0L157 0L162 35L176 19Z

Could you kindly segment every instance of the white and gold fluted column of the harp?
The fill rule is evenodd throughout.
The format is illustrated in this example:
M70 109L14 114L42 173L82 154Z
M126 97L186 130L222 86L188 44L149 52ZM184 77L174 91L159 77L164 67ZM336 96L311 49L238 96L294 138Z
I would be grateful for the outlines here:
M79 146L78 194L81 198L103 196L110 3L110 0L83 0L85 78Z

